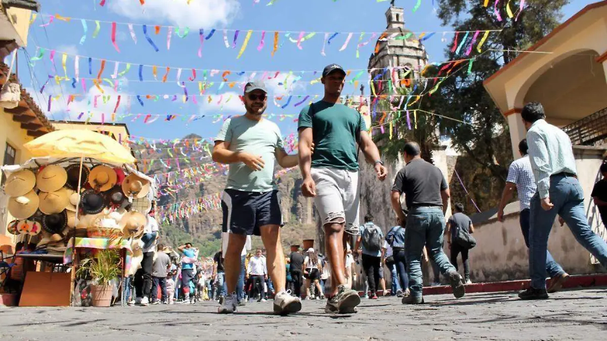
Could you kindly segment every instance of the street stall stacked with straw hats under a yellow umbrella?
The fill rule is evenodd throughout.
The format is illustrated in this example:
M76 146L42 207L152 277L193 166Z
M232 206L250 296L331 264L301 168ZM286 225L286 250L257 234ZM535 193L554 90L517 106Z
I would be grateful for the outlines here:
M124 277L132 242L143 234L154 180L138 172L127 149L97 132L59 130L25 148L34 158L2 167L7 175L8 212L15 218L8 231L18 235L16 257L41 263L38 268L56 272L56 278L69 276L69 288L61 288L66 293L61 302L74 302L77 276L93 280L91 287L107 297L109 280L114 280L107 276ZM94 266L107 261L119 271L99 277ZM30 272L25 275L22 300L45 305L27 300L39 296L36 288L47 288L44 283L28 283L35 277L41 280Z

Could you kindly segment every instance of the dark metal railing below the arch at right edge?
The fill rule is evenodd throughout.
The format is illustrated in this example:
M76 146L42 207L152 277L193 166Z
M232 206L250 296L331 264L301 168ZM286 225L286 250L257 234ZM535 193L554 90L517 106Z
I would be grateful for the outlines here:
M563 130L577 146L600 146L607 144L607 108L575 121Z

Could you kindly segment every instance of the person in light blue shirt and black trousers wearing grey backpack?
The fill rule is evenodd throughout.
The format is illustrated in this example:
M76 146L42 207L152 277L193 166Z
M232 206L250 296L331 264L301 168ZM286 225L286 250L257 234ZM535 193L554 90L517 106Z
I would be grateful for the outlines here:
M365 225L359 227L358 238L354 252L362 251L362 268L367 275L369 299L376 300L376 285L379 285L379 271L384 271L381 265L381 248L384 245L384 233L373 223L373 215L365 215ZM362 248L361 248L362 246ZM366 294L366 293L365 293Z

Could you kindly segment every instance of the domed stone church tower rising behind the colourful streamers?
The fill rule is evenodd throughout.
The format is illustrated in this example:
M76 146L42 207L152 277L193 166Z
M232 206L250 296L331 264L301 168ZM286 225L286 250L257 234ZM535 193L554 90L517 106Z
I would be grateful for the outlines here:
M385 12L386 30L379 37L369 58L376 95L396 95L402 87L413 87L428 63L426 48L410 30L405 29L404 11L392 6ZM392 92L390 92L392 90ZM373 92L371 92L373 100Z

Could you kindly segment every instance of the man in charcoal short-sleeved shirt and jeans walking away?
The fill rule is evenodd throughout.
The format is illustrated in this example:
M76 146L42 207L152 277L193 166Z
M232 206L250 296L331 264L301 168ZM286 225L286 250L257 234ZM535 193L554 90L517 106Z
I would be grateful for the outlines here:
M402 299L405 304L423 303L421 255L424 246L430 257L449 278L456 298L465 294L461 275L449 263L443 252L443 233L445 231L445 211L449 200L447 181L438 167L422 160L419 145L407 142L404 147L404 160L407 163L396 174L392 187L392 208L401 221L407 221L405 234L405 252L409 268L409 289L411 294ZM409 214L405 217L401 208L401 195Z

